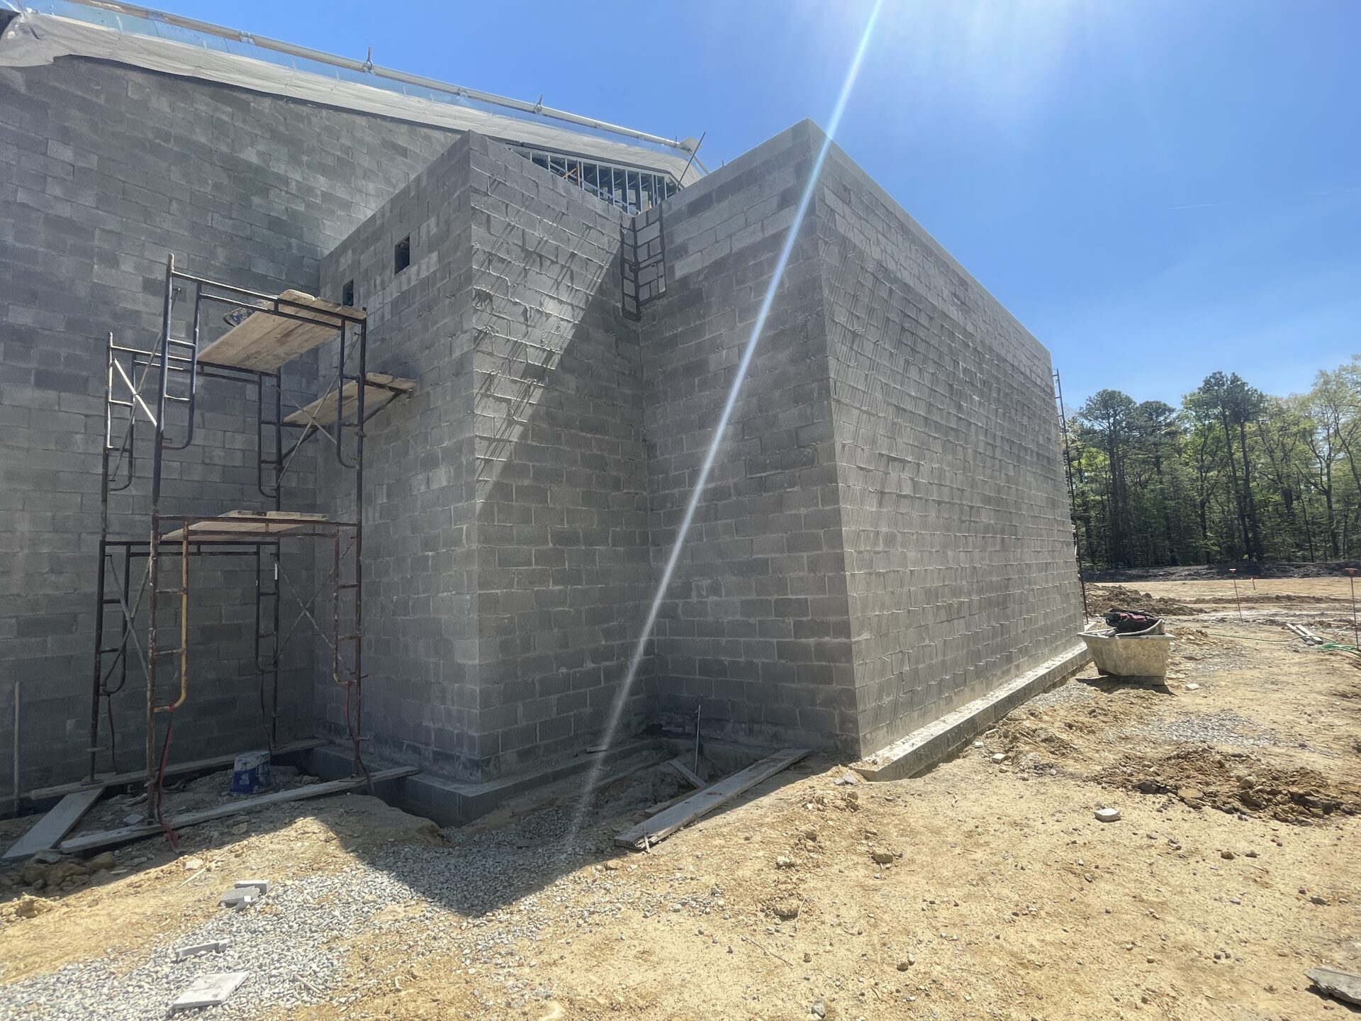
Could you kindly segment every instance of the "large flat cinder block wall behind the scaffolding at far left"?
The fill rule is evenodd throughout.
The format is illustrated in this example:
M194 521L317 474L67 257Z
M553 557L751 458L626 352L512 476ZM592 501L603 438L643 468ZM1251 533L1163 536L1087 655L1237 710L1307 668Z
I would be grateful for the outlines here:
M450 137L71 57L0 71L0 745L22 682L22 787L86 761L106 332L154 342L171 252L246 287L314 290L323 253ZM210 383L201 410L199 442L167 461L166 510L259 506L253 393ZM146 509L118 531L142 535ZM195 568L186 757L261 739L250 579ZM297 730L310 728L309 659L299 647L284 681ZM142 702L116 698L122 768L140 765Z

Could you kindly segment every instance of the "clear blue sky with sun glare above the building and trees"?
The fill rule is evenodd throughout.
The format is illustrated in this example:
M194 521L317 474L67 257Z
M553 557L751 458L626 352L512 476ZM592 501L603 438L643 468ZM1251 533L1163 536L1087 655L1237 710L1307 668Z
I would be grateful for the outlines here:
M868 0L152 0L685 137L826 124ZM1064 396L1273 393L1361 353L1361 3L886 0L840 144L1053 353Z

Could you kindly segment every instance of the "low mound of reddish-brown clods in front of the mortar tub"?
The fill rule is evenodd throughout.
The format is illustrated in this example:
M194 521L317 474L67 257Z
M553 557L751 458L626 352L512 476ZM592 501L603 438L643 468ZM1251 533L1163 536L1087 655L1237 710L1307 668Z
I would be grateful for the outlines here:
M1192 809L1263 815L1308 825L1341 811L1361 811L1361 787L1334 784L1307 768L1278 768L1245 751L1209 746L1160 758L1131 757L1092 777L1141 794L1170 794Z

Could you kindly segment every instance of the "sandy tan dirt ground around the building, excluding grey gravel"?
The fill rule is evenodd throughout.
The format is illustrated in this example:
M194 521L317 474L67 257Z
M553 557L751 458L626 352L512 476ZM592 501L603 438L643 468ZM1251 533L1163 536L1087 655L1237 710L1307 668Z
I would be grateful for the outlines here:
M551 840L508 840L508 828L539 825L527 806L440 833L366 796L186 832L195 870L143 841L35 918L0 905L0 994L110 950L131 967L219 911L212 871L302 878L415 844L465 863L524 848L524 892L490 911L393 903L384 911L399 927L348 939L317 1002L249 1016L1358 1013L1311 991L1304 972L1361 972L1361 658L1307 648L1283 626L1350 644L1346 581L1256 585L1240 594L1241 619L1219 581L1130 585L1200 611L1169 618L1166 686L1087 668L923 776L845 784L844 768L806 760L648 854L610 847L646 814L630 779L599 794L593 849L568 866ZM1117 822L1094 818L1106 806Z

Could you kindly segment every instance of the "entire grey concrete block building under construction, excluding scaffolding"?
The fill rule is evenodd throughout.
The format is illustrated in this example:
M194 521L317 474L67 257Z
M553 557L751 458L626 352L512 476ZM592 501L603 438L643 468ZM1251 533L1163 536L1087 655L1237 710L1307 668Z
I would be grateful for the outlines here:
M704 173L694 143L438 83L384 90L369 68L283 72L272 52L203 45L223 38L211 26L112 8L0 4L16 790L73 779L90 753L103 336L162 328L167 255L362 308L369 368L416 384L365 425L367 754L452 781L523 775L599 742L622 700L619 735L693 732L698 709L709 736L859 757L1074 645L1048 353L840 148L814 177L813 123ZM310 400L335 358L320 347L280 388ZM259 502L260 414L204 381L212 456L166 461L185 513ZM352 513L342 475L313 445L282 505ZM325 555L295 577L325 589ZM241 609L257 576L195 570L211 596L191 617L207 653L185 757L259 743L263 707ZM282 736L343 736L329 663L314 637L282 658ZM143 713L121 698L102 732L132 746Z

